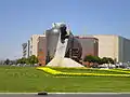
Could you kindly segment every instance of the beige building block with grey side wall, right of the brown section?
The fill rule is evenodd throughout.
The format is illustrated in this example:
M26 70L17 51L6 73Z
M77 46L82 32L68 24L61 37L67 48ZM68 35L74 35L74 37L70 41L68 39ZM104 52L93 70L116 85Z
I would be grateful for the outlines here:
M117 61L130 60L130 40L115 34L96 34L99 39L99 56L112 57Z

